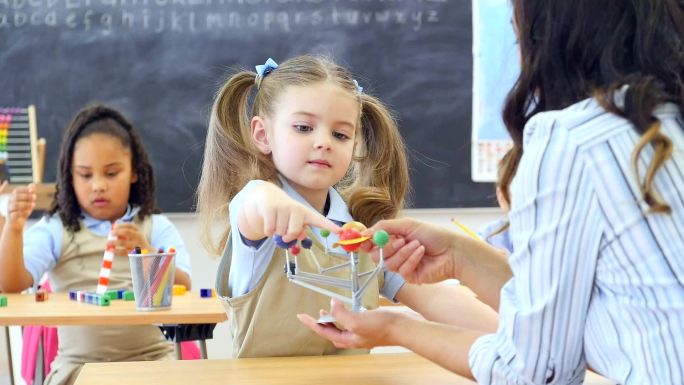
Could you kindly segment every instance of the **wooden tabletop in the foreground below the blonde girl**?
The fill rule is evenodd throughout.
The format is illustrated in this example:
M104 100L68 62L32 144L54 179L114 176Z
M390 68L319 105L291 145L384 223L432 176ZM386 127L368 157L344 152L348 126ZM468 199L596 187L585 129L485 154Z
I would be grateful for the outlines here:
M75 385L465 385L413 353L85 364ZM588 375L585 384L611 384Z

